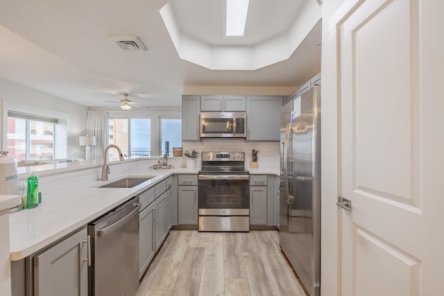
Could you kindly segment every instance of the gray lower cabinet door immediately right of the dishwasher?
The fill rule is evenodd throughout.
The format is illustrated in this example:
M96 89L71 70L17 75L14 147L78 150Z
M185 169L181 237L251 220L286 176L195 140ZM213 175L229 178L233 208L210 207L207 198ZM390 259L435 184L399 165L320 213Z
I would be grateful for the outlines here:
M154 245L154 211L153 203L145 207L139 216L139 279L155 254Z

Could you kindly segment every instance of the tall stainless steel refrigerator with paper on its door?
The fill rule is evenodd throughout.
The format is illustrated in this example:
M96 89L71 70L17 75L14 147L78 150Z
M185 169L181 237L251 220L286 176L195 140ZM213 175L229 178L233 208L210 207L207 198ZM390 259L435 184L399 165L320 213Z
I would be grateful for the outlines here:
M321 87L282 107L280 139L280 246L309 295L320 295Z

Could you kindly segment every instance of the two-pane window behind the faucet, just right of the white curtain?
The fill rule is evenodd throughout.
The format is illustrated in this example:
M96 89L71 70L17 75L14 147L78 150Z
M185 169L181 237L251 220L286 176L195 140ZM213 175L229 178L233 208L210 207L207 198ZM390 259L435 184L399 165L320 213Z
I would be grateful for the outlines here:
M119 146L124 157L151 155L151 119L108 118L108 144ZM117 150L108 150L108 159L119 160Z

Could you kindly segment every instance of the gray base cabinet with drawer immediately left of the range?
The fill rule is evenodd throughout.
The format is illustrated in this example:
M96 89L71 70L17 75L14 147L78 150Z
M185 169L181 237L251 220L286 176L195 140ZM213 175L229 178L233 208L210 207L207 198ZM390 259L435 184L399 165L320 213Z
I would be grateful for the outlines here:
M178 177L178 224L197 225L197 175L179 175Z

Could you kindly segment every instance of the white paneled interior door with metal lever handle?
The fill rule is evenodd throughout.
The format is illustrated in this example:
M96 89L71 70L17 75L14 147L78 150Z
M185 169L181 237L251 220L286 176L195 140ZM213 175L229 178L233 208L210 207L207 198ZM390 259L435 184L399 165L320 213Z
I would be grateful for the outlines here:
M341 295L444 293L443 2L349 0L332 18Z

